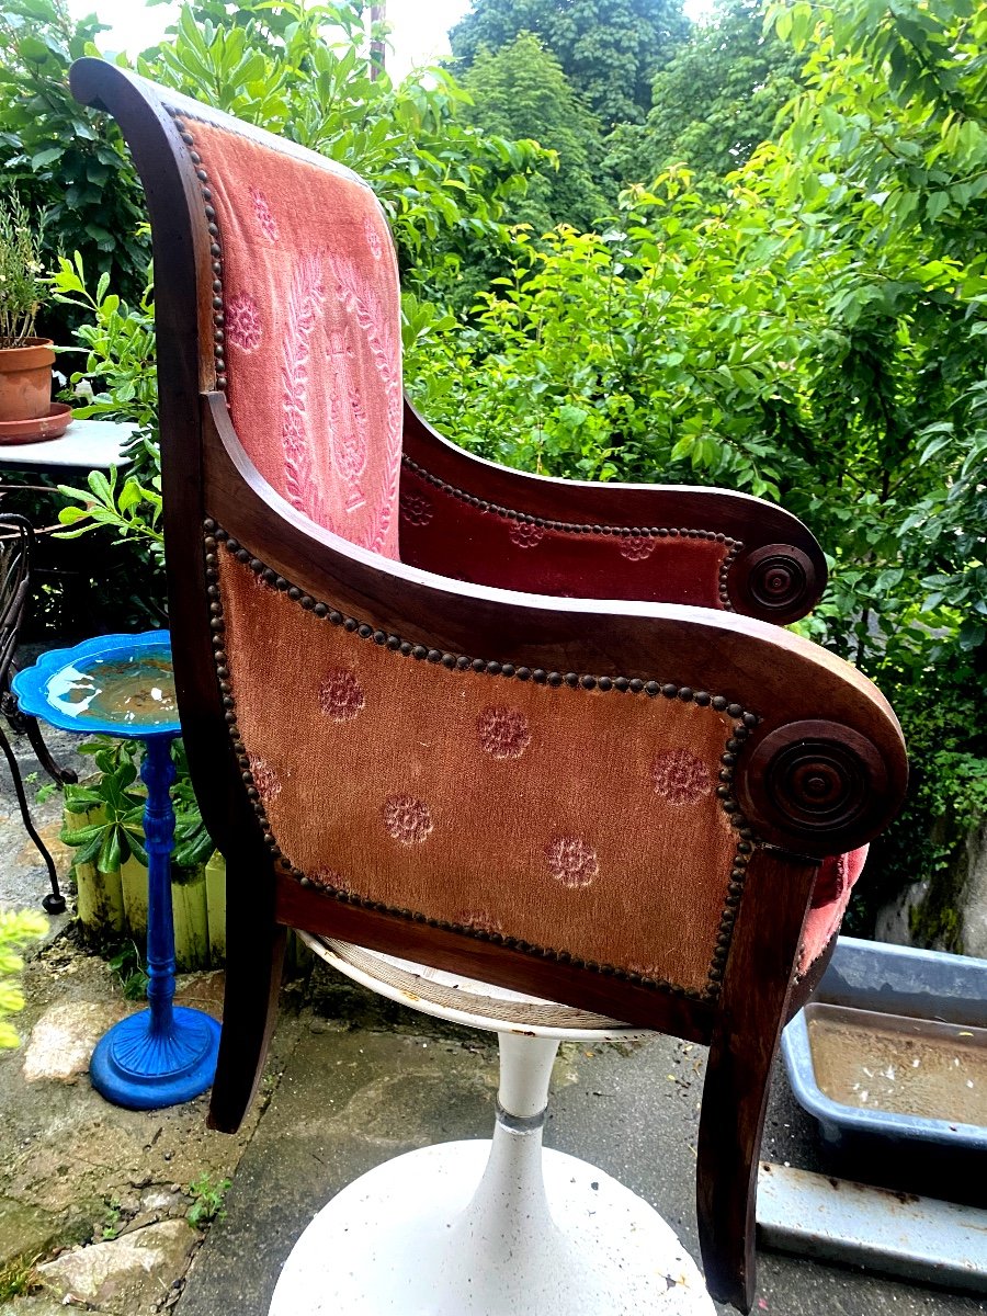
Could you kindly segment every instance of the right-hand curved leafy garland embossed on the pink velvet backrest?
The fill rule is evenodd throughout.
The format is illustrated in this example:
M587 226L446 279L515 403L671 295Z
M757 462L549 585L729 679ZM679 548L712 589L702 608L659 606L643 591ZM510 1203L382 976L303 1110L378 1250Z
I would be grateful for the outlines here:
M401 478L404 404L397 325L393 317L384 315L378 291L354 261L330 254L329 267L337 296L355 318L365 336L370 358L384 392L386 434L382 467L384 487L375 500L374 519L363 542L363 547L378 553L387 540L387 532L397 505L397 487ZM337 451L336 438L333 451ZM363 461L366 462L366 457ZM345 476L345 470L341 474Z

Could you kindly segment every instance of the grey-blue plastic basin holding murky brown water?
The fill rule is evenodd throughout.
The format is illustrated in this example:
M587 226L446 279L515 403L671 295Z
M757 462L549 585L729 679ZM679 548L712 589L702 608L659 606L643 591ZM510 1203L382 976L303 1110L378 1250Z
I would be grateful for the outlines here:
M782 1054L841 1169L987 1198L987 961L841 937Z

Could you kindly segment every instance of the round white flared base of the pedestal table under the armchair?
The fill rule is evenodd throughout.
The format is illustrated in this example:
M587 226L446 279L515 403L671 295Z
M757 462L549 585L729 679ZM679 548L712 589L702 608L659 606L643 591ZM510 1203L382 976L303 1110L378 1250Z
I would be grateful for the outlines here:
M497 1123L494 1144L422 1148L365 1174L301 1234L270 1316L713 1316L657 1211L540 1144Z

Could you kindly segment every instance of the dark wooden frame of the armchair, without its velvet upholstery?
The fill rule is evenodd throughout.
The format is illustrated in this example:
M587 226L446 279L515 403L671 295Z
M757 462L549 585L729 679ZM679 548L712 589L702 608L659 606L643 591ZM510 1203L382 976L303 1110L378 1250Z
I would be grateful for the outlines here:
M446 443L411 405L407 467L465 504L516 509L536 524L582 522L615 533L701 526L704 534L737 541L742 551L729 565L721 601L747 616L674 599L574 600L470 584L321 530L261 479L224 397L222 300L213 286L222 268L221 234L188 132L196 118L221 122L224 116L96 59L78 62L71 83L80 101L120 122L151 213L179 708L203 815L237 892L228 903L226 1001L211 1123L234 1129L255 1090L288 926L707 1044L697 1169L703 1259L711 1294L746 1312L767 1083L782 1026L811 987L795 980L794 966L820 861L879 833L907 779L900 729L870 682L769 624L803 616L819 597L825 584L819 545L797 520L744 495L504 470ZM238 130L270 145L267 134L246 125ZM301 607L318 615L337 609L368 642L407 646L422 661L479 661L499 674L513 670L519 679L716 699L716 707L729 707L737 730L721 796L733 809L742 867L730 886L733 913L717 951L715 990L658 992L634 974L597 973L566 955L536 957L507 937L465 936L409 911L328 899L286 869L250 797L249 761L228 697L215 584L222 553L250 562ZM694 691L700 678L716 696Z

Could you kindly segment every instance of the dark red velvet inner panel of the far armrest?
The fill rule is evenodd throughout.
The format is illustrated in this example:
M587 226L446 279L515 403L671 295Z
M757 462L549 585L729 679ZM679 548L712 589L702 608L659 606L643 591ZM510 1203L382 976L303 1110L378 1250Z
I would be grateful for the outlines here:
M674 599L724 608L726 570L742 547L695 526L537 521L453 490L408 461L400 505L403 562L476 584L563 597Z

